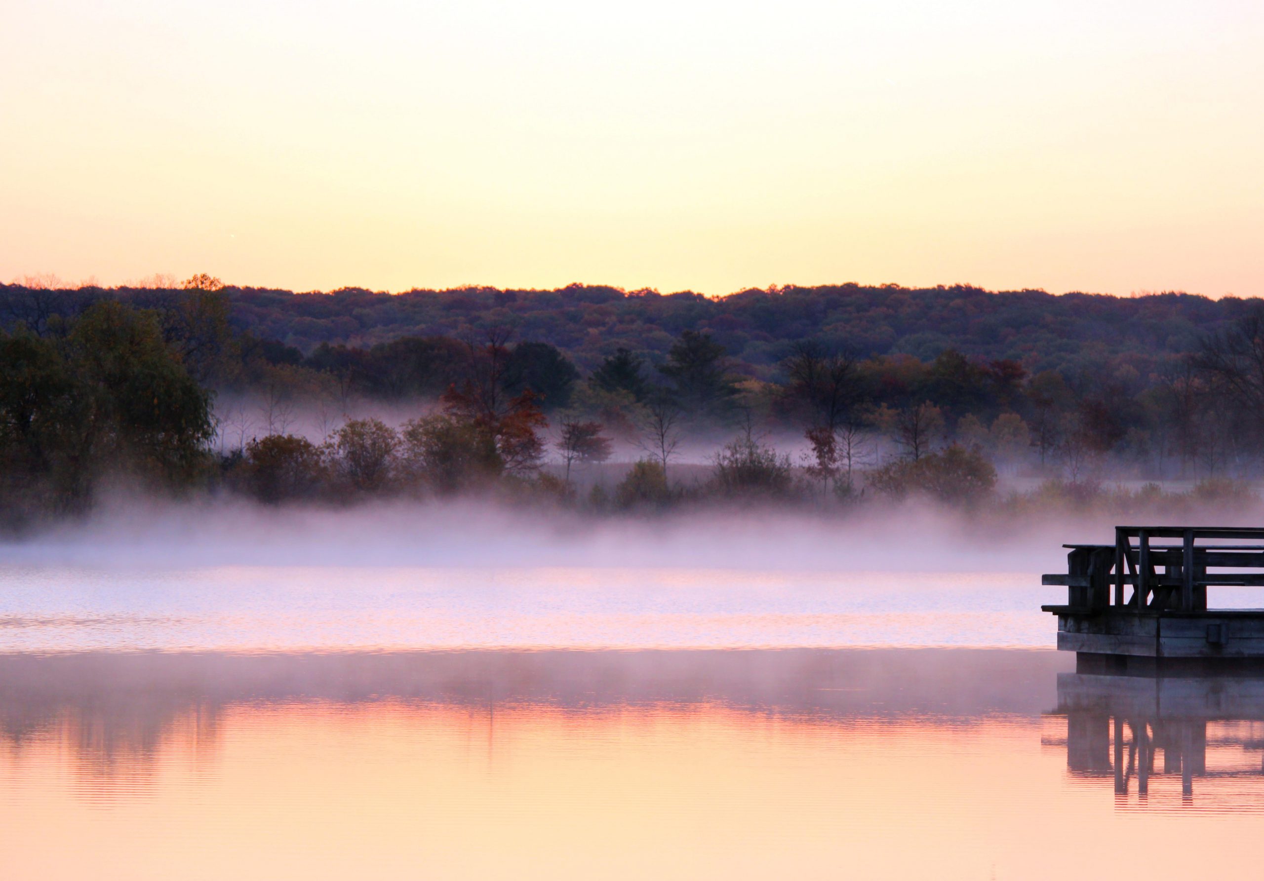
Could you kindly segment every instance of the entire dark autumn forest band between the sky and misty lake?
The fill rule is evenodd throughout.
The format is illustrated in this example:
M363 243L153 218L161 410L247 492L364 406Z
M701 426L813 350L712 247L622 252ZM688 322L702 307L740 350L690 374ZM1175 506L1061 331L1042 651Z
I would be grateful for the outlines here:
M1220 503L1250 495L1261 415L1258 300L0 286L9 525L123 483L603 511Z

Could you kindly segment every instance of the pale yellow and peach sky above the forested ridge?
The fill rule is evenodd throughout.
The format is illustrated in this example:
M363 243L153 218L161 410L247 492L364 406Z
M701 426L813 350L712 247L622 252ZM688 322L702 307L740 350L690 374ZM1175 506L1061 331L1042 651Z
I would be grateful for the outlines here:
M1258 0L5 0L0 281L1264 293Z

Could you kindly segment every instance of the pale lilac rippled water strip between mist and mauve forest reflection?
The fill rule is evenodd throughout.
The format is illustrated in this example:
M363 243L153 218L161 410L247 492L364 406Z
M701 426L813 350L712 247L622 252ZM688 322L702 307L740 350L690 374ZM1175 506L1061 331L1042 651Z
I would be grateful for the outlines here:
M693 568L9 566L0 581L0 651L1035 647L1040 603L1066 593L1031 573Z

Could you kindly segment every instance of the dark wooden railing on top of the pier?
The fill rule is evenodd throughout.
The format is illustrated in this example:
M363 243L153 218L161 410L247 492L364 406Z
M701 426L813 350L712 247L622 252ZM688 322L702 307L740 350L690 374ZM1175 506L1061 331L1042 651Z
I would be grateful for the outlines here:
M1043 583L1086 612L1201 612L1211 585L1264 585L1264 528L1117 526L1114 545L1064 547L1067 574Z

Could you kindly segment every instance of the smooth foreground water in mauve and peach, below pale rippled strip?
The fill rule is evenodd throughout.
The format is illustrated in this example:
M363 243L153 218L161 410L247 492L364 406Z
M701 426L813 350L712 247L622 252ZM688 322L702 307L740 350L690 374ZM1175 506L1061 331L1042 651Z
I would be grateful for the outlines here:
M1060 881L1090 861L1095 876L1188 878L1208 852L1249 876L1259 777L1207 776L1239 717L1213 714L1205 748L1202 729L1181 729L1177 752L1165 726L1178 717L1152 714L1143 739L1148 705L1111 703L1144 684L1097 683L1081 702L1077 680L1059 680L1072 662L1006 650L0 656L0 877ZM1130 794L1138 763L1154 767L1145 810L1109 795L1116 715ZM1178 809L1155 810L1177 756L1194 809L1177 785ZM1135 853L1117 846L1126 835L1200 848Z

